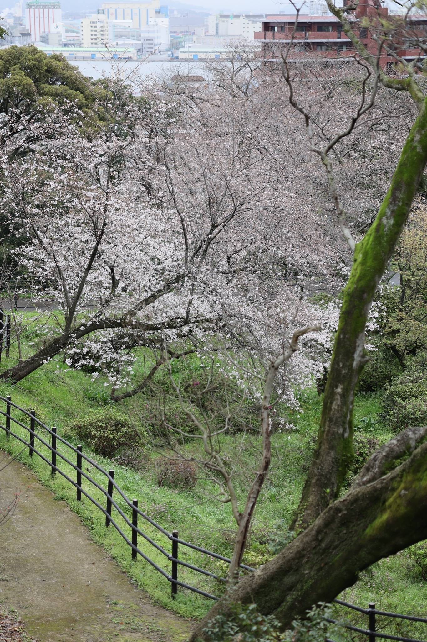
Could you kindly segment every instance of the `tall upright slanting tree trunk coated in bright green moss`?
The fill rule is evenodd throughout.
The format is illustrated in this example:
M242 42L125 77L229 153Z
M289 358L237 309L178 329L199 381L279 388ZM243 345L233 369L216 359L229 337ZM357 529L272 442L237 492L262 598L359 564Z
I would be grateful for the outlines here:
M337 497L351 463L353 402L357 379L366 361L367 316L378 282L407 221L426 161L427 108L424 103L375 223L355 249L325 388L318 443L291 527L294 530L310 525Z

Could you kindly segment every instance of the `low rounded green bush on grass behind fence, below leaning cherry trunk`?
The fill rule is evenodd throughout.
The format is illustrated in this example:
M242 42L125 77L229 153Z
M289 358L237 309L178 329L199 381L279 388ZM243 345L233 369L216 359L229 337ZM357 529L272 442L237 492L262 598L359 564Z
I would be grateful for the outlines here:
M123 449L142 446L141 428L124 413L106 406L90 410L87 415L70 422L66 432L78 437L97 455L111 457Z

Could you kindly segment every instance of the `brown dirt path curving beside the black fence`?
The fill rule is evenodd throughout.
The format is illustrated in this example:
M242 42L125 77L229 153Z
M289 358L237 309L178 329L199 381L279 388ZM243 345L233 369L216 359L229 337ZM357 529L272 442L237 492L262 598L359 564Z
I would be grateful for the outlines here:
M0 453L3 459L4 453ZM0 467L10 461L4 455ZM182 642L191 625L129 582L65 502L24 465L0 473L0 507L22 492L0 526L0 610L13 607L41 642Z

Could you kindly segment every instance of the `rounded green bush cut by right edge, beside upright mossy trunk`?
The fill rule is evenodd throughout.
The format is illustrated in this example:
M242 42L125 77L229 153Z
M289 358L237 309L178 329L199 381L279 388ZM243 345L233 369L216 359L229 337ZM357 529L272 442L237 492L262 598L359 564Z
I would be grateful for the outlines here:
M427 372L414 364L385 386L382 419L396 432L427 423Z

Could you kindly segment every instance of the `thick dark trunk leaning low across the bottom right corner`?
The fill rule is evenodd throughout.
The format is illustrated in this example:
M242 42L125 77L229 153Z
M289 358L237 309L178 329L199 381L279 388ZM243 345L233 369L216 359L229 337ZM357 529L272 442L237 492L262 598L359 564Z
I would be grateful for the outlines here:
M427 538L427 444L388 475L326 508L293 542L232 589L232 601L274 614L282 627L319 601L331 602L362 569ZM227 612L216 602L190 642L204 639L207 621Z

